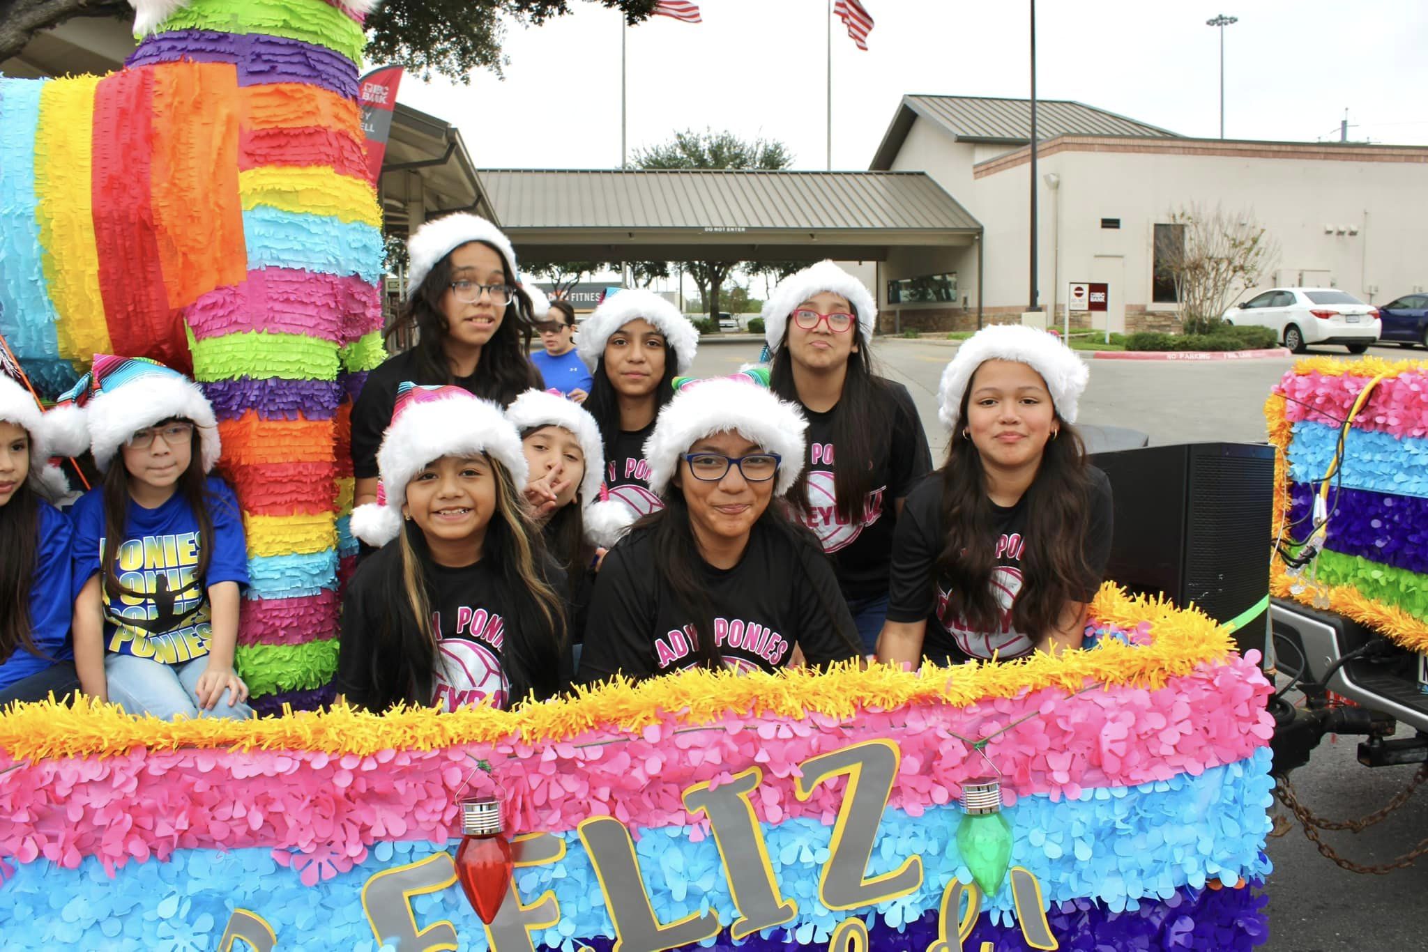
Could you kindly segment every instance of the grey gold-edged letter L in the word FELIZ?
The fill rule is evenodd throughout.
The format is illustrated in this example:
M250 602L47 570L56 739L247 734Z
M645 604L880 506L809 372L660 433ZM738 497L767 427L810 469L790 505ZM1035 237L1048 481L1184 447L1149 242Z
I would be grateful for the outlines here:
M630 831L613 816L591 816L580 824L580 839L605 893L610 921L615 923L611 952L667 952L695 945L718 935L718 916L691 912L678 922L661 925L644 891L640 861Z

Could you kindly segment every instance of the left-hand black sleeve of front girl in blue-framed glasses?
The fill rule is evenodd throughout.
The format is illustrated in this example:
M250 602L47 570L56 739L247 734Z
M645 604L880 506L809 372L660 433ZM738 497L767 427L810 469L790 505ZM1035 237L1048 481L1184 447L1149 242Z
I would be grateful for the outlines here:
M634 542L620 540L600 567L575 675L581 684L605 681L615 672L631 678L657 672L651 632L655 597L650 584L638 581L653 579L654 565L643 558L647 547Z

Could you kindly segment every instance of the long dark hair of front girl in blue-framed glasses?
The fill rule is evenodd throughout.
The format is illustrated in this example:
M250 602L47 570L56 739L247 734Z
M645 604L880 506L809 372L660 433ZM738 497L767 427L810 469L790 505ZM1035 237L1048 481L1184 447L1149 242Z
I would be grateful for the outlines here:
M680 615L690 618L694 628L695 664L701 668L720 669L724 662L724 652L714 641L714 608L710 604L708 588L700 575L698 544L694 538L694 528L690 525L690 507L684 501L680 487L670 484L663 497L664 508L645 515L637 521L630 532L650 532L654 545L654 565L660 572L664 587L674 594L674 604ZM778 500L770 500L768 508L754 522L753 531L763 528L787 538L793 544L795 559L808 572L808 562L827 559L818 537L803 525L793 522L785 514ZM838 618L833 605L823 605L824 621L833 631L840 631ZM857 649L857 645L848 642Z

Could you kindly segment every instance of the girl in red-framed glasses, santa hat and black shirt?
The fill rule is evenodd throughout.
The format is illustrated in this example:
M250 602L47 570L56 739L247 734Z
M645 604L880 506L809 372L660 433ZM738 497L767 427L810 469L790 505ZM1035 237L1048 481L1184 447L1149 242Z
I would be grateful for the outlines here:
M877 315L863 281L833 261L788 275L764 307L770 387L808 418L807 467L788 501L833 557L865 654L887 614L902 501L932 468L907 387L873 374Z

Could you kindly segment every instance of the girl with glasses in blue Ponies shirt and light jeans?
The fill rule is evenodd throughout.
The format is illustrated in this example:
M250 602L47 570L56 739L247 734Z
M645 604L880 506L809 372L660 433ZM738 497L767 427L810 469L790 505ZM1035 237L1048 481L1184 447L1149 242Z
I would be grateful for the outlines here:
M251 716L233 669L248 584L243 520L233 491L207 475L218 458L213 407L191 380L143 358L97 355L80 388L104 474L73 514L84 692L163 719Z

